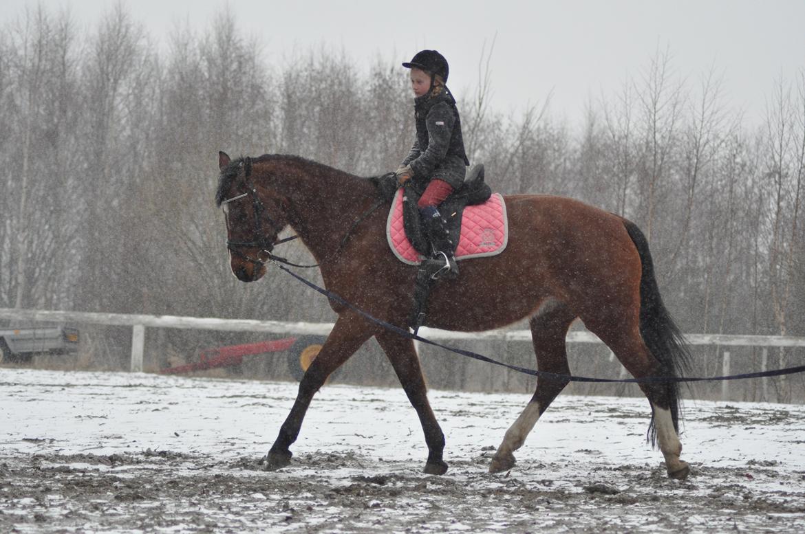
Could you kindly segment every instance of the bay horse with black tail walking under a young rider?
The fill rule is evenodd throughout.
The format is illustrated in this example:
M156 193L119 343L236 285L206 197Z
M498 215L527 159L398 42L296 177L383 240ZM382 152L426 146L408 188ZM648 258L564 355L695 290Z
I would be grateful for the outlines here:
M398 261L386 243L388 209L372 210L378 202L375 184L293 155L234 160L224 152L218 155L216 204L225 215L234 276L244 282L263 277L279 233L290 226L319 264L325 288L343 299L328 299L336 322L299 382L291 412L263 458L266 469L287 466L314 394L374 336L422 424L428 450L423 472L444 474L444 433L428 402L412 339L356 310L406 329L417 273L414 265ZM649 439L658 442L668 476L685 479L690 467L680 459L676 379L690 356L660 297L646 237L629 220L574 199L504 198L510 230L506 249L462 261L459 277L440 281L432 290L425 322L449 331L485 331L529 320L540 374L489 472L514 466L514 451L569 383L565 338L580 318L632 376L650 377L638 382L651 409Z

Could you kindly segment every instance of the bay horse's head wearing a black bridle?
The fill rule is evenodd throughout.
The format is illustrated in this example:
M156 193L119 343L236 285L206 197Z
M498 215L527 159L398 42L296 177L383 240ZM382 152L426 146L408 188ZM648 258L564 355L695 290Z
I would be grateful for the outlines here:
M240 281L256 281L266 273L265 262L287 225L283 199L266 187L258 187L250 158L230 161L218 153L221 178L216 204L224 211L229 266Z

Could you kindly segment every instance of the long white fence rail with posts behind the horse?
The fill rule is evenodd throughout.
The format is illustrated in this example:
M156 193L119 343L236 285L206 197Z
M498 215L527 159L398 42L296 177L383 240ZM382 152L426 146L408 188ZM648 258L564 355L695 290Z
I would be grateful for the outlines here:
M90 324L132 327L131 371L142 372L142 353L145 347L146 327L185 328L196 330L266 332L269 334L328 335L332 322L281 322L257 321L254 319L222 319L211 317L180 317L175 315L105 314L86 311L17 310L0 308L0 319L43 322L85 322ZM485 332L451 332L435 328L421 328L419 335L427 339L500 339L506 341L530 341L527 330L493 330ZM763 371L766 370L768 347L805 347L805 338L785 335L723 335L686 334L692 345L766 347L763 351ZM597 336L587 331L568 333L568 343L601 343ZM729 351L724 354L723 369L729 375ZM729 383L722 383L722 395L729 396ZM764 380L764 388L766 381Z

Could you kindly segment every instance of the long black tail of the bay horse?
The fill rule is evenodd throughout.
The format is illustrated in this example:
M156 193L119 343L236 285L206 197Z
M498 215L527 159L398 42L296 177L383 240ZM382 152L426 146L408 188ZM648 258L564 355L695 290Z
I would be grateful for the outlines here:
M646 343L651 355L660 364L660 376L667 378L682 377L690 368L691 354L687 350L682 332L668 313L663 298L660 297L657 279L654 277L654 263L651 261L649 243L638 226L628 220L624 221L626 232L638 249L642 263L640 277L640 335ZM650 384L650 388L658 394L658 398L667 402L671 410L674 428L679 433L679 382L659 382ZM657 429L654 426L654 415L651 417L648 438L656 445Z

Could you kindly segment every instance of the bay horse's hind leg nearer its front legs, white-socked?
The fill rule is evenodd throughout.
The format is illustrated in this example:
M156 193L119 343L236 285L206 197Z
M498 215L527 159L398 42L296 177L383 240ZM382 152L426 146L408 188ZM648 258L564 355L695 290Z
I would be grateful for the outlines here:
M537 356L537 369L557 375L570 375L565 337L576 314L562 302L553 299L544 302L537 314L530 319L531 340ZM567 378L538 376L534 396L520 417L506 430L503 442L489 464L489 473L499 473L514 466L514 451L526 441L539 417L545 413L559 392L568 385Z

